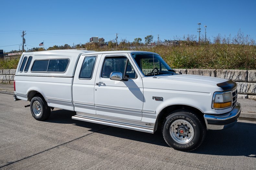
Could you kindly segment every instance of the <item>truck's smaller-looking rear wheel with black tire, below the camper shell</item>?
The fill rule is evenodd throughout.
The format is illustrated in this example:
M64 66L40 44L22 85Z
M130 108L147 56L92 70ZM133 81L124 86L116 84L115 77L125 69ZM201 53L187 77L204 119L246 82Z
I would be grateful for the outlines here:
M49 118L51 107L47 105L47 102L41 96L35 96L31 99L30 111L36 120L43 121Z

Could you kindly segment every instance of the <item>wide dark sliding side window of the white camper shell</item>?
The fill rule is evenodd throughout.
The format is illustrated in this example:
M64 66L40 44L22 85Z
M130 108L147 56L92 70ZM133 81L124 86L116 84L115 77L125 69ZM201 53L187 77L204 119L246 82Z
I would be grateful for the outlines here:
M64 73L67 70L69 59L35 60L31 72Z

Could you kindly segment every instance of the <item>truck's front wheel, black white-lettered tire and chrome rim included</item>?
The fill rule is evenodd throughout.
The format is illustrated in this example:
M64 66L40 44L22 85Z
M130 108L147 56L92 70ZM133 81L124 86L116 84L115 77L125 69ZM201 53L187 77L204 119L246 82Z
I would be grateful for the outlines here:
M206 127L193 112L175 110L165 118L162 134L169 146L176 150L189 152L203 143Z

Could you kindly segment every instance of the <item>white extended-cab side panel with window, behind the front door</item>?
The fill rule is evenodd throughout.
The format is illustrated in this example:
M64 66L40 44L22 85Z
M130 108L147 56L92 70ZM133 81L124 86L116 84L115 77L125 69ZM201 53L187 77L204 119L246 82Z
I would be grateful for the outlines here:
M73 104L75 111L96 115L94 84L101 55L81 55L73 81Z

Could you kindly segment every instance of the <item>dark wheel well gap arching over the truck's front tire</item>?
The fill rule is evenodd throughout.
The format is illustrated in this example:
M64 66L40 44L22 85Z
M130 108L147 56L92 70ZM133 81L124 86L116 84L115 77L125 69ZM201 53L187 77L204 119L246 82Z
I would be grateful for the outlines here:
M156 123L155 123L155 127L154 127L154 132L158 128L162 127L162 123L163 123L165 117L167 115L169 115L170 112L172 112L174 110L178 110L178 109L184 109L184 110L193 111L193 113L198 116L198 118L202 121L202 123L205 124L205 122L204 122L204 114L198 108L195 108L195 107L190 106L190 105L169 105L169 106L166 106L165 108L163 108L159 112L159 114L157 115L157 119L156 119Z

